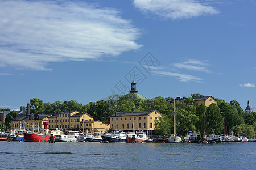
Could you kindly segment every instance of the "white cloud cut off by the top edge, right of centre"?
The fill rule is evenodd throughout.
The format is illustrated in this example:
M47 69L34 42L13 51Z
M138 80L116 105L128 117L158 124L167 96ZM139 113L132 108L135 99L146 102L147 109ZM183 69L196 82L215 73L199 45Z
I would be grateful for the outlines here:
M188 19L218 11L195 0L134 0L139 10L156 14L164 19Z

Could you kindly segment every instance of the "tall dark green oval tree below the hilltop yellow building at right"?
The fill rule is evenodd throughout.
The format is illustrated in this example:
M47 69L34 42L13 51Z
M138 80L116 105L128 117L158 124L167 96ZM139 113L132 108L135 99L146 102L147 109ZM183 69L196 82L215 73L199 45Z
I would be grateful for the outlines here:
M223 117L220 113L220 108L215 103L208 106L205 111L205 130L210 133L220 134L223 129Z

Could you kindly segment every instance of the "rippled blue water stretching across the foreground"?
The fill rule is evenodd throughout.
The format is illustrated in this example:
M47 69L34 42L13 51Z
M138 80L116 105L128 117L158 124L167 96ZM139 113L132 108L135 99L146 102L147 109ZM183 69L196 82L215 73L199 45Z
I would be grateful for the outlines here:
M256 142L72 143L0 141L0 169L255 169Z

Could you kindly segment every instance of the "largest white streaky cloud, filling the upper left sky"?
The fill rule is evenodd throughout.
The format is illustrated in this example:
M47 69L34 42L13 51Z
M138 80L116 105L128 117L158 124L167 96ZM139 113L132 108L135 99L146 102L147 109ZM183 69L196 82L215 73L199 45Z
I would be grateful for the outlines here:
M140 48L119 11L72 1L0 0L0 67L51 70L49 62L118 56Z

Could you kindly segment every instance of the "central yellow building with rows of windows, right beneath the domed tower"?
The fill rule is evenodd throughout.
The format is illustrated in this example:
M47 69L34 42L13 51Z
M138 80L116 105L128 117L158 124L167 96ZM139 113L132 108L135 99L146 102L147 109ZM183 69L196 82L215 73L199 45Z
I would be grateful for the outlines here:
M157 110L116 112L110 116L110 128L123 131L154 131L154 121L162 116L163 114Z

